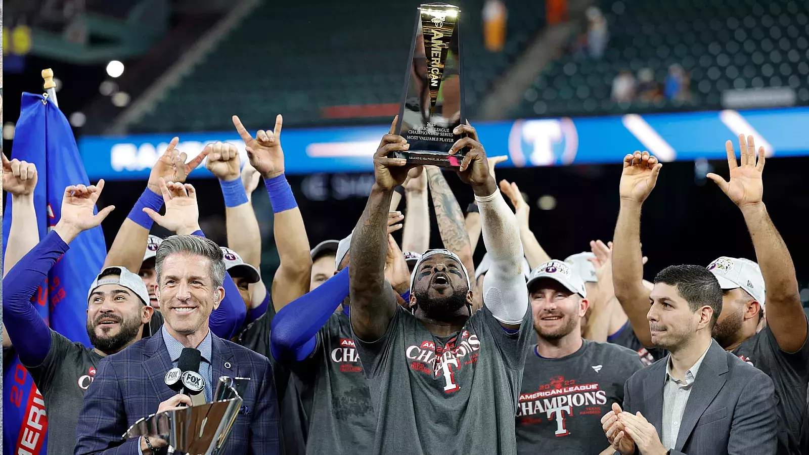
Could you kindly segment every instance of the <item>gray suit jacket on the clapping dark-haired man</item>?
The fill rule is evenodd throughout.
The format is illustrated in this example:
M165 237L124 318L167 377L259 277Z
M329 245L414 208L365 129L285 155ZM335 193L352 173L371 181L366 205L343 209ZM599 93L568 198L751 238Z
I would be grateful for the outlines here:
M659 359L624 385L623 409L632 414L641 411L658 436L667 362L668 356ZM711 340L671 455L775 455L776 403L769 376Z

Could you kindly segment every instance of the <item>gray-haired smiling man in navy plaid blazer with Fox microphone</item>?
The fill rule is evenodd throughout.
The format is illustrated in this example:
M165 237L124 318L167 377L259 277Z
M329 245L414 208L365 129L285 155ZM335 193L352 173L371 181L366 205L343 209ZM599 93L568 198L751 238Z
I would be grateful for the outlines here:
M192 185L161 182L161 189L167 217L175 206L196 204L191 201L196 198ZM187 228L199 231L198 226ZM171 236L158 248L155 271L165 324L159 334L100 362L95 385L87 390L79 415L74 453L151 455L165 447L167 441L156 436L122 442L121 435L147 415L197 402L196 397L192 400L175 393L163 381L165 372L178 367L180 354L187 349L197 351L201 359L199 374L204 387L197 395L200 401L212 401L214 378L250 378L242 395L244 406L223 453L280 453L277 398L269 360L218 338L208 328L211 312L225 296L222 250L202 236Z

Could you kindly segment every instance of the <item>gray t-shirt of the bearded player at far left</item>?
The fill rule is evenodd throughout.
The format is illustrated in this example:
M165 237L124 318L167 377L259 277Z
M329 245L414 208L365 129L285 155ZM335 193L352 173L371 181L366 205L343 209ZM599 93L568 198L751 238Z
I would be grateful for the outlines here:
M42 364L27 367L40 389L48 415L48 455L72 455L78 413L95 378L101 355L51 330L51 348Z

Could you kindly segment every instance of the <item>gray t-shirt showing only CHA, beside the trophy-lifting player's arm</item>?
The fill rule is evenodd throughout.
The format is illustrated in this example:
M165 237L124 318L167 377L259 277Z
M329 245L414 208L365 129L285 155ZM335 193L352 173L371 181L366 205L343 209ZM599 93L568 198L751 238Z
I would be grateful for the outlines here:
M306 453L369 453L376 420L349 317L332 314L317 334L315 351L291 368L301 381L309 420Z

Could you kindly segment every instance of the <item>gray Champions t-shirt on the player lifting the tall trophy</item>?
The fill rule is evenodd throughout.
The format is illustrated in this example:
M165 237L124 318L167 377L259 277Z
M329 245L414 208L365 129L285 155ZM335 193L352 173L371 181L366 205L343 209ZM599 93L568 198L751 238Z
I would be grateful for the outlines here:
M404 308L375 342L354 336L371 387L376 435L370 454L511 455L531 308L506 332L485 306L447 337Z

